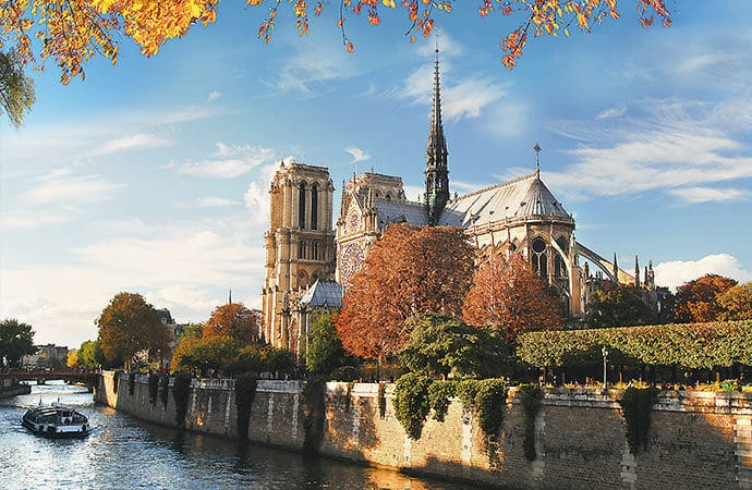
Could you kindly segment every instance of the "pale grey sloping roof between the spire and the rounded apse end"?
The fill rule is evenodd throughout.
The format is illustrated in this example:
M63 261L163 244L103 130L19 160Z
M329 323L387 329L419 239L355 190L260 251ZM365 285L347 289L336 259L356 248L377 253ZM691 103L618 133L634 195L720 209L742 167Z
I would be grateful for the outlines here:
M506 218L537 216L572 219L535 172L450 200L438 224L468 229Z

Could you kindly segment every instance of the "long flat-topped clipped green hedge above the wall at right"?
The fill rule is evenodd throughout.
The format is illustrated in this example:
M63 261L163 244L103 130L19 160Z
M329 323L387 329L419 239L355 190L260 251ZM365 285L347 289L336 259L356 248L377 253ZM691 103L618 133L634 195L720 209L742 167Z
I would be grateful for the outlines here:
M529 332L518 338L518 357L533 366L619 364L713 369L752 365L752 320L612 329Z

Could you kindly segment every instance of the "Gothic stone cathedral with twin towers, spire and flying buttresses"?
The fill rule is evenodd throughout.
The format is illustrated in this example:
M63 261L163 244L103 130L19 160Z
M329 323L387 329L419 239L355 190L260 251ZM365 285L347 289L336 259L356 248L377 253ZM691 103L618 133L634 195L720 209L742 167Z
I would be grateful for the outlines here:
M575 240L574 218L541 179L541 147L536 144L533 149L533 173L450 196L437 50L425 192L420 201L407 199L399 176L373 171L353 175L342 183L339 218L333 223L333 185L327 168L283 162L277 170L269 189L264 340L277 347L304 350L307 313L341 306L342 291L390 223L461 226L478 250L490 246L521 253L557 290L573 317L583 315L587 297L605 282L654 290L652 265L641 283L636 258L630 274L618 267L616 256L609 261ZM592 273L589 262L599 270Z

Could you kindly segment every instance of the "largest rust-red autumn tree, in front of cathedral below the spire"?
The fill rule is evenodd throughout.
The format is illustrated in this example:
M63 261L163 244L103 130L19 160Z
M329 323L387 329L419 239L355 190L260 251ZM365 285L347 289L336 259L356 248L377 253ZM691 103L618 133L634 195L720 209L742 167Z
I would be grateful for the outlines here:
M337 333L345 351L380 363L404 346L408 318L458 315L474 256L459 228L387 226L344 292Z

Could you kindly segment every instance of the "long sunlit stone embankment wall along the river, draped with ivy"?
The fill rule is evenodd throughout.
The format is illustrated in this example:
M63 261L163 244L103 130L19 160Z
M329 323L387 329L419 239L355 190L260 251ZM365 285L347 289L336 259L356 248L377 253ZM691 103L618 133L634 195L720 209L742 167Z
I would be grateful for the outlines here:
M231 384L196 382L186 427L234 436ZM145 377L137 379L133 396L128 394L126 378L118 395L111 393L111 381L100 388L97 401L174 426L172 396L167 409L160 400L151 405ZM648 451L634 456L626 442L620 391L547 390L535 420L538 457L531 463L523 454L524 417L514 390L507 400L494 458L488 456L476 420L463 413L459 401L451 403L444 422L429 418L421 439L409 439L395 417L392 390L392 384L386 387L381 417L378 384L327 383L319 452L513 488L752 488L751 393L663 392L652 414ZM302 383L259 381L248 439L300 450L303 426Z

